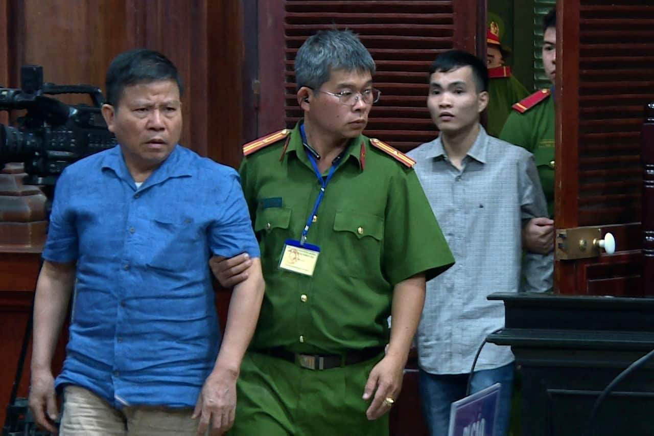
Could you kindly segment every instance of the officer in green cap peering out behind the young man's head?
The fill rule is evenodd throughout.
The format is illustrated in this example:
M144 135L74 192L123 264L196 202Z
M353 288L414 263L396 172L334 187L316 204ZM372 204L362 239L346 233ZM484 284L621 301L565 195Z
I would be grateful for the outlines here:
M486 56L489 69L489 105L487 108L486 131L490 136L498 137L506 118L509 117L511 105L529 95L525 86L511 75L511 67L506 61L511 54L508 46L500 42L500 26L490 22L486 31Z

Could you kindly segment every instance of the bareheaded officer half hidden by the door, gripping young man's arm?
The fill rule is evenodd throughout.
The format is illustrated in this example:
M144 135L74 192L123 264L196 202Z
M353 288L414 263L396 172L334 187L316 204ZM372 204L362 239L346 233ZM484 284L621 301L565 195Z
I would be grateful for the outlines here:
M543 67L554 85L557 61L557 15L552 9L543 19ZM500 139L521 145L534 154L540 182L547 200L549 218L532 219L523 230L523 242L529 251L547 253L554 241L554 96L549 89L535 92L515 103L506 120Z

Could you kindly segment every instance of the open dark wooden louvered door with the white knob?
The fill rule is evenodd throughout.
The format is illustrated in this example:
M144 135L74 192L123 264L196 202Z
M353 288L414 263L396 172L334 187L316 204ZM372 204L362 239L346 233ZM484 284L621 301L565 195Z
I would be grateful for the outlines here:
M557 261L559 291L638 295L640 130L645 103L654 101L654 5L566 0L559 7L556 226L602 227L619 250Z

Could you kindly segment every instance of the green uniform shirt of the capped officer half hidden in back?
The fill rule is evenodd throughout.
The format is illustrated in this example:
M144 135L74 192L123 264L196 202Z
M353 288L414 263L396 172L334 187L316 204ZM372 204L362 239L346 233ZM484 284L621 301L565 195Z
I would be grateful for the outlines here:
M513 76L496 77L489 80L489 105L487 112L486 132L498 137L502 126L511 112L511 106L523 100L529 92L525 86Z

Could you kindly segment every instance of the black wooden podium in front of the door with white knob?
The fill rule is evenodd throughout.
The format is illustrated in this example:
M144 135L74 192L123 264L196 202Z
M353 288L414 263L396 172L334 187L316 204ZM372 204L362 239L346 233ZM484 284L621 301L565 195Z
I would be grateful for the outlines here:
M489 342L509 345L522 376L523 435L584 436L604 388L654 349L654 299L493 294L505 328ZM602 403L593 436L654 434L654 361Z

